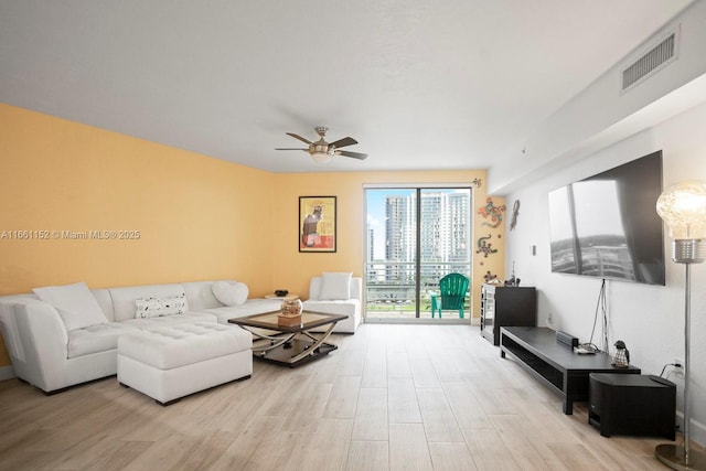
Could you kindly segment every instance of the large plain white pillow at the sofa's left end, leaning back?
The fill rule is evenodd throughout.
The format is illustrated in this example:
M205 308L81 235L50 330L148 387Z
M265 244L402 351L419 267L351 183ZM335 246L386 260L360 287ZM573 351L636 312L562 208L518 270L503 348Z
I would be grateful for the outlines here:
M67 331L108 322L85 282L47 286L32 291L40 300L56 308Z

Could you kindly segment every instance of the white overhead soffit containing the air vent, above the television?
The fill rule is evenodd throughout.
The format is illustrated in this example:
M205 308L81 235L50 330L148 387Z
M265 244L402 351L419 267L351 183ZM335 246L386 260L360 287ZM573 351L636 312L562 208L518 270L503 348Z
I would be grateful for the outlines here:
M692 3L645 39L623 61L598 77L546 121L522 149L498 158L488 172L488 193L517 191L547 168L576 163L628 136L706 100L706 0ZM629 92L620 93L622 69L665 39L681 32L678 58ZM699 101L697 101L699 100Z

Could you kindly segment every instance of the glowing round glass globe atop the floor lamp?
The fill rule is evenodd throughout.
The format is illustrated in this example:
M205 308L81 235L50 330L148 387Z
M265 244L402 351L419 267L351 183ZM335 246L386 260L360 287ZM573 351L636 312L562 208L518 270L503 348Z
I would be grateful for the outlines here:
M686 180L657 199L657 214L673 239L706 239L706 182Z

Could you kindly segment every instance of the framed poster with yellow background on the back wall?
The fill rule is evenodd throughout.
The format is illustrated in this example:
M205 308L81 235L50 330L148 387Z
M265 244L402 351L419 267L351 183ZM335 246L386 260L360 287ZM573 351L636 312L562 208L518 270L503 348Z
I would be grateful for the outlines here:
M299 251L335 251L335 196L299 196Z

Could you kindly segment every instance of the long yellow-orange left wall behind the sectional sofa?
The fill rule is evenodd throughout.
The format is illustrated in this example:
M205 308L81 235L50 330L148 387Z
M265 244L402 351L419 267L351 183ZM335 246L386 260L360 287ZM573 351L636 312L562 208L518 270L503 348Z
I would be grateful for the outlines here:
M269 292L271 173L7 105L0 152L0 295L223 278ZM69 238L86 231L108 238Z

